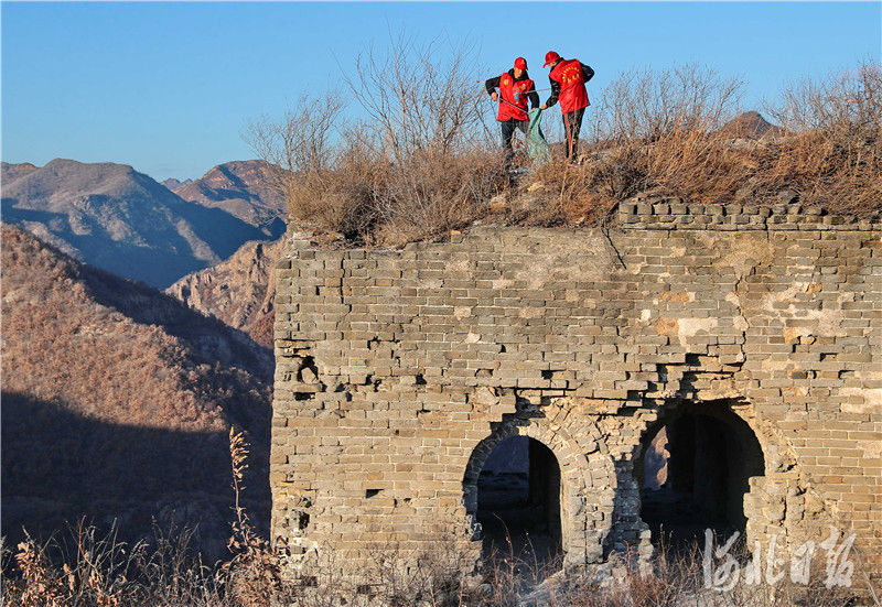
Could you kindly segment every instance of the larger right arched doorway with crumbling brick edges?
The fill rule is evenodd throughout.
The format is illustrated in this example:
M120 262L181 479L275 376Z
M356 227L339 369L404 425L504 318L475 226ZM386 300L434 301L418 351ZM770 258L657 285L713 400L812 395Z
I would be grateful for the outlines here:
M749 479L765 470L762 446L730 403L677 403L646 430L635 463L641 518L674 550L745 531Z

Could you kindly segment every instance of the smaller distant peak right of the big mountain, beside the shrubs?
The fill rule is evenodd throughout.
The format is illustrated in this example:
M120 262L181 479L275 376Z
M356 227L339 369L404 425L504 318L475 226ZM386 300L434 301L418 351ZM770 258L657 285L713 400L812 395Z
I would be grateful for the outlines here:
M284 199L272 187L271 171L262 160L227 162L171 189L185 200L224 209L266 236L278 238L284 232Z

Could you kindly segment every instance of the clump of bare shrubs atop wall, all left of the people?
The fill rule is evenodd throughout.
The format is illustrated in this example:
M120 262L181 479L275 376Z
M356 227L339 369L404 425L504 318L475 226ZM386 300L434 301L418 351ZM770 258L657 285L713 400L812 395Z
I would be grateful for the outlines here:
M330 95L250 127L256 152L281 167L295 221L400 245L483 213L504 184L503 156L483 122L474 50L440 46L399 36L388 52L359 56L345 77L346 95L367 117L358 123L344 121L340 96Z

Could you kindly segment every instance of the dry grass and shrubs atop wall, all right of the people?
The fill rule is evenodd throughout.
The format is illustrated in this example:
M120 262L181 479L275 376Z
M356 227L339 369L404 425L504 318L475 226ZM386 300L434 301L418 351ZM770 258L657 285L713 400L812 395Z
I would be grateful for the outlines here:
M882 209L880 65L790 86L771 112L784 129L760 140L732 121L741 89L697 65L624 73L589 110L581 162L540 169L544 204L517 220L598 225L647 191L714 204L778 202L788 189L835 213Z

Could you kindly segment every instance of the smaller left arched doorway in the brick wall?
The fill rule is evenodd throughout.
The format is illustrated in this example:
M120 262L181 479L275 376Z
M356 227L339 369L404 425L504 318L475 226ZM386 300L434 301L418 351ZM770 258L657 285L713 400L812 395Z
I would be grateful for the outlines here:
M527 436L508 437L490 454L475 485L485 557L514 555L540 567L559 560L561 471L550 448Z

